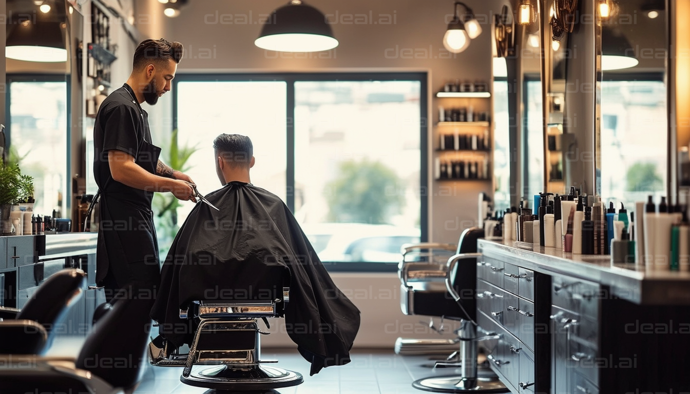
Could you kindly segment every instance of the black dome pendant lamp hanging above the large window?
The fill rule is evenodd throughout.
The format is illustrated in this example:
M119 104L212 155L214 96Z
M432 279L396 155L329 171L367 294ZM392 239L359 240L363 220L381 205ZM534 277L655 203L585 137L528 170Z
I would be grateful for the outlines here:
M279 52L317 52L337 47L338 40L322 12L292 0L270 14L254 44Z

